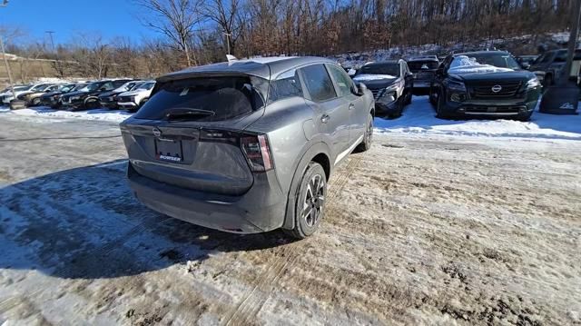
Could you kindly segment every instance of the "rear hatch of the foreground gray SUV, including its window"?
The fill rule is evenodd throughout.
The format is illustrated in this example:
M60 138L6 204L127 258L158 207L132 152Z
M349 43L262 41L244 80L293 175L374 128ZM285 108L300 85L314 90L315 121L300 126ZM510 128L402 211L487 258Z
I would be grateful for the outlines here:
M263 114L257 83L264 84L251 76L158 83L149 101L121 124L135 172L208 193L247 192L253 174L244 140L258 136L242 131Z

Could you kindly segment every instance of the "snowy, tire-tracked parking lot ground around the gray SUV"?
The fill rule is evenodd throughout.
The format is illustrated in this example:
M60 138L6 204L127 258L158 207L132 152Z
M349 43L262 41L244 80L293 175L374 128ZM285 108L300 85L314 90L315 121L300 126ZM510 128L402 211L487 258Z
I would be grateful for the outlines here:
M234 235L124 181L128 114L0 110L0 324L581 322L581 116L376 119L320 232Z

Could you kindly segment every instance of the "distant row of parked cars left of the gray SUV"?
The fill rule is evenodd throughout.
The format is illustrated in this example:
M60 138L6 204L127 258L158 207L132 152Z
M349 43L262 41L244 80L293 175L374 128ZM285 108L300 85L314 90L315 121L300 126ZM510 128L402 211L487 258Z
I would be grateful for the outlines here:
M136 111L149 99L155 81L112 79L76 83L19 84L0 92L0 103L12 109L49 106L71 111L98 107ZM15 96L16 98L15 98Z

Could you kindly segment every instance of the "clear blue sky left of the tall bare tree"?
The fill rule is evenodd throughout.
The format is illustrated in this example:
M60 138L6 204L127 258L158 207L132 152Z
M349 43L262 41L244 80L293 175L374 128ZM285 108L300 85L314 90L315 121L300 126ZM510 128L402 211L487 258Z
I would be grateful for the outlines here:
M1 1L0 1L1 2ZM0 25L19 26L30 40L67 43L78 32L101 33L105 38L130 36L133 42L157 37L136 18L143 10L132 0L10 0L0 8Z

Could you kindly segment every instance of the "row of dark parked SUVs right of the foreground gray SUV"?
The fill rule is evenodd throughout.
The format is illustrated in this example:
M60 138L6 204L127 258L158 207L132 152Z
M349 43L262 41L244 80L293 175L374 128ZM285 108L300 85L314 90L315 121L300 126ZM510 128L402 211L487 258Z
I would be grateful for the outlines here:
M506 51L476 51L372 62L346 71L356 84L365 84L372 92L378 114L397 117L411 103L411 94L428 94L440 118L527 121L543 88L563 73L566 54L554 50L517 58ZM577 84L581 84L580 67L581 50L576 50L571 76Z

